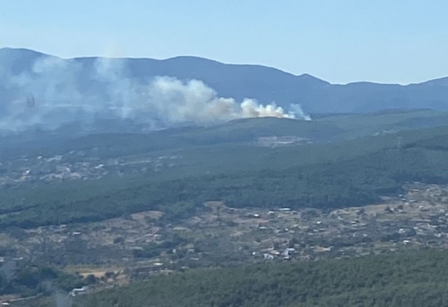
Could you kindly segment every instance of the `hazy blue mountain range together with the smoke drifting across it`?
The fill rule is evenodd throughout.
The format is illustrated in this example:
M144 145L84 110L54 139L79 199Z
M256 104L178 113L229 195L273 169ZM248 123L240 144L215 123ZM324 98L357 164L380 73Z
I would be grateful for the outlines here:
M61 59L13 48L0 49L0 91L2 129L30 124L52 128L75 121L86 126L116 118L155 129L244 117L448 110L448 78L406 86L332 85L307 74L199 57ZM38 112L29 112L27 96L32 97L28 106L38 106Z

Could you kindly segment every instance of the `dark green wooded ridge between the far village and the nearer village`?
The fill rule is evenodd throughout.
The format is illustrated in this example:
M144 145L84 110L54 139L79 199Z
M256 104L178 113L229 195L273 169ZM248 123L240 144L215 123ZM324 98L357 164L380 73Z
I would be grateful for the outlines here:
M407 182L448 183L446 129L412 131L400 137L404 140L400 145L396 145L397 136L384 136L339 145L281 148L271 152L271 158L279 159L282 168L269 168L260 160L256 167L178 179L140 176L129 181L109 178L24 185L2 191L0 226L92 222L154 209L173 220L187 217L211 200L237 208L331 209L374 204L382 195L399 194ZM326 156L320 154L307 162L297 157L301 153L311 157L314 150ZM221 158L225 163L239 159L224 152L216 155L214 163L219 164ZM288 161L291 166L286 167Z

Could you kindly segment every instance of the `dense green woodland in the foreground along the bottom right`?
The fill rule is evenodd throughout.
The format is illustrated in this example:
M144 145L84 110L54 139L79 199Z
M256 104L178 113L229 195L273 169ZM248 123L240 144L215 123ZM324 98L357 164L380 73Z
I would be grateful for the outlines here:
M83 307L448 306L448 252L197 269L78 301Z

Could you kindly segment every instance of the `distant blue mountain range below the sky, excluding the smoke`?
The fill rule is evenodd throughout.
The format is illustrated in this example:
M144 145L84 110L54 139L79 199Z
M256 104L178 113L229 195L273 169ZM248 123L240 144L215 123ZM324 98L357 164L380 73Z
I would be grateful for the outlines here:
M59 58L33 50L0 49L0 102L26 97L29 90L21 87L25 82L20 80L20 76L39 78L39 74L48 73L42 67L36 68L36 62L42 59ZM65 62L76 65L77 69L71 71L71 78L67 79L70 87L76 87L80 94L95 91L101 94L104 87L92 74L98 59L59 59L51 65L59 69L64 69ZM247 97L261 103L276 101L278 106L285 108L291 103L299 103L306 113L365 113L388 108L448 110L448 77L412 85L367 82L334 85L307 74L295 76L272 67L223 64L200 57L125 58L111 59L111 63L119 64L126 78L139 83L155 76L197 79L216 90L220 97L232 97L237 101ZM55 74L54 78L62 77ZM57 91L57 86L52 90Z

